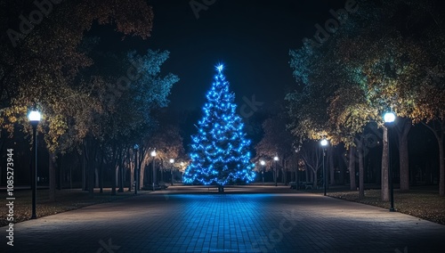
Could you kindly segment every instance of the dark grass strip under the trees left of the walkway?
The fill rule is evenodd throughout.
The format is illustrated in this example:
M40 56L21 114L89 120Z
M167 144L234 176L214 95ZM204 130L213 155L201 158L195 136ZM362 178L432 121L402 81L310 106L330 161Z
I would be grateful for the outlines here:
M6 195L5 191L2 191ZM138 194L144 194L144 191ZM88 196L88 192L80 189L64 189L56 191L56 201L49 201L49 190L38 189L36 193L36 215L37 217L51 216L61 212L83 208L94 204L122 200L134 196L134 192L117 192L116 195L111 195L111 189L104 189L103 193L99 190L94 191L94 198ZM31 191L18 190L14 191L15 200L13 200L14 223L26 221L31 217ZM0 226L9 224L6 220L8 208L4 206L3 211L0 212Z

